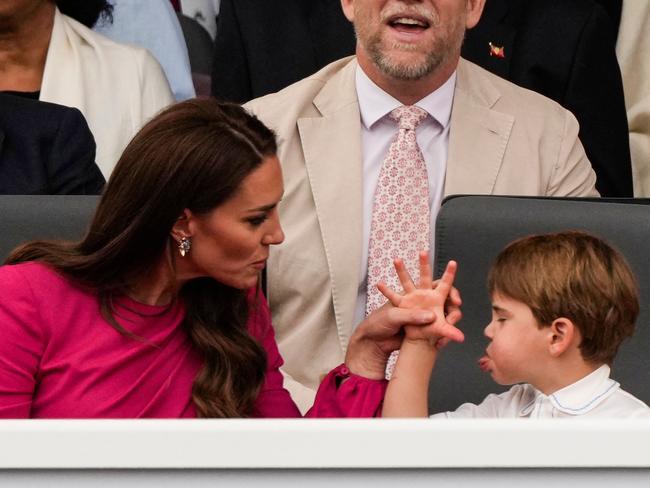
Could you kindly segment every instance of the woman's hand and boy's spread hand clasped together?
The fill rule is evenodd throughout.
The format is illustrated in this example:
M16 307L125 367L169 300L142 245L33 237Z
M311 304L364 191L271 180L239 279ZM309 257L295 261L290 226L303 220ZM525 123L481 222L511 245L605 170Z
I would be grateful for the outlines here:
M462 342L463 333L455 324L461 318L461 299L453 287L456 262L450 261L439 280L433 281L429 254L419 256L420 276L415 284L401 259L395 270L403 294L386 284L377 285L388 303L375 310L357 327L350 338L346 364L355 374L371 379L384 377L386 360L402 341L427 341L440 349L449 341Z

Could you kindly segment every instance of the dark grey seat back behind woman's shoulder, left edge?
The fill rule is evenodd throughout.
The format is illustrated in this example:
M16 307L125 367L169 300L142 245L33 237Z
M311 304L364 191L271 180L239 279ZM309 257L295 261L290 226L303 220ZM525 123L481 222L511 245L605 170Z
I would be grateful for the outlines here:
M0 195L0 262L26 241L83 237L98 202L95 195Z

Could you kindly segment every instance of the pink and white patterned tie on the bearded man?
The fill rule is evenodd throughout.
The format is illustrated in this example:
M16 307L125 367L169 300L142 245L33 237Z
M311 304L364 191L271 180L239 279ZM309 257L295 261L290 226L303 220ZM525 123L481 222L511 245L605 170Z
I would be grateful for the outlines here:
M406 269L416 278L419 253L429 249L429 179L415 138L416 127L426 117L427 112L415 106L398 107L390 113L390 118L399 124L399 132L388 148L375 190L368 246L366 315L386 302L377 290L377 283L383 281L392 289L402 291L393 260L403 259ZM387 379L397 361L396 353L388 361Z

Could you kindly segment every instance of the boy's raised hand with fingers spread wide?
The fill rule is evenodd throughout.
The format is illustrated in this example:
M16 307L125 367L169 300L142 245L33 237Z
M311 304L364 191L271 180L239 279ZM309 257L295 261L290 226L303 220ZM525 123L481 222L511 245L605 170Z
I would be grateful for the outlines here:
M429 255L420 253L420 277L418 284L413 283L404 261L395 260L395 271L399 277L404 294L400 295L390 289L385 283L379 283L377 288L395 307L406 309L430 310L435 314L433 322L427 325L408 325L404 327L406 340L427 340L440 348L450 340L462 342L465 338L455 324L460 319L460 297L453 288L456 276L456 262L449 261L442 277L436 282L432 279ZM434 287L435 286L435 287ZM451 304L450 313L445 316L445 303Z

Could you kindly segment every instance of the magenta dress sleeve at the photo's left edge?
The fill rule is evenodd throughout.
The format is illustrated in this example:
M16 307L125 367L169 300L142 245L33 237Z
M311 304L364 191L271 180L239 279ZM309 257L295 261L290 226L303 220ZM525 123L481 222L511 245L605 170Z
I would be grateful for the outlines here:
M22 267L0 267L0 418L29 418L45 338Z

